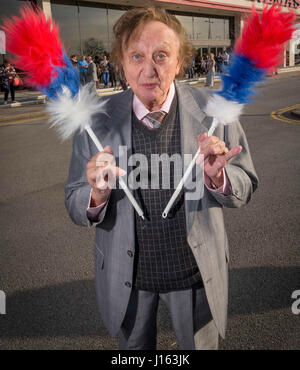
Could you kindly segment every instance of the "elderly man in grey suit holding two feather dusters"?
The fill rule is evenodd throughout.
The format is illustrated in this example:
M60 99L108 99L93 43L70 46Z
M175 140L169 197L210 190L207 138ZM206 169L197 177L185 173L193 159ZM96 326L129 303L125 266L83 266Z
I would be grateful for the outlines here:
M66 186L72 220L96 226L101 316L110 334L119 336L120 349L155 349L162 300L180 349L216 349L219 334L225 336L228 304L222 207L246 204L257 186L247 140L239 122L207 136L212 117L203 108L209 93L175 80L192 53L175 16L133 9L117 21L114 33L112 54L131 89L105 98L105 115L94 119L104 152L86 134L75 135ZM189 199L185 189L169 218L161 215L174 192L175 170L167 189L161 181L158 189L134 189L146 220L121 189L105 186L111 173L129 171L121 165L124 147L126 156L142 154L150 161L152 154L194 155L199 146L204 194ZM153 176L147 167L141 174Z

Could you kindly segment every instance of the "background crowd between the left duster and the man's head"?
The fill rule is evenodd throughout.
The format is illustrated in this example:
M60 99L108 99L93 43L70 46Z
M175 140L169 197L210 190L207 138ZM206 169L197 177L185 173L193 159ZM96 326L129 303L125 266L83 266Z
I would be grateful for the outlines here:
M127 90L127 83L121 73L116 71L114 62L109 59L109 55L104 54L102 59L99 56L87 58L82 55L79 60L76 55L71 55L71 63L78 68L80 83L93 82L95 88L98 89L103 84L104 88L113 88L114 90ZM120 87L117 87L117 80L119 80Z

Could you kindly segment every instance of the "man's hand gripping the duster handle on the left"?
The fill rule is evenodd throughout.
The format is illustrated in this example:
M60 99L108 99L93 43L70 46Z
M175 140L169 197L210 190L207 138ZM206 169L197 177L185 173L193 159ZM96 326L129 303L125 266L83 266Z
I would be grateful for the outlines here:
M110 146L103 152L95 154L86 165L86 177L93 188L91 207L97 207L106 202L112 188L115 186L116 177L124 176L126 171L116 167L116 161Z

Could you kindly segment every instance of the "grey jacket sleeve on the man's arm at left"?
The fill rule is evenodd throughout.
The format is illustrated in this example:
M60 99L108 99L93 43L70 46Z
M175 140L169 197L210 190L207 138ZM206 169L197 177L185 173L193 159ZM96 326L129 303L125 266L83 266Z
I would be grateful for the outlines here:
M96 226L105 217L108 201L99 214L98 222L87 217L91 186L86 178L86 164L92 157L86 131L76 132L73 139L73 152L69 168L68 182L65 186L65 206L71 220L80 226Z

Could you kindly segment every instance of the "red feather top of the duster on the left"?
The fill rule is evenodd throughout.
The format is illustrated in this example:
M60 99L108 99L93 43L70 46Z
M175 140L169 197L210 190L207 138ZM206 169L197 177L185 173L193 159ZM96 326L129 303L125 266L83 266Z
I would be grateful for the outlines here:
M49 85L57 76L54 67L65 65L58 27L41 10L25 6L20 12L21 18L6 19L2 27L7 50L16 55L12 63L27 72L28 84Z

